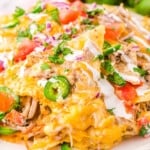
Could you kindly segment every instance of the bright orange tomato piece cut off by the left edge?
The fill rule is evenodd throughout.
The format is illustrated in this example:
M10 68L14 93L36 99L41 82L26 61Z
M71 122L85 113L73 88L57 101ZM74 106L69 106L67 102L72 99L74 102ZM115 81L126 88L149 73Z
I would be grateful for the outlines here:
M13 105L13 98L7 93L0 92L0 112L7 112Z

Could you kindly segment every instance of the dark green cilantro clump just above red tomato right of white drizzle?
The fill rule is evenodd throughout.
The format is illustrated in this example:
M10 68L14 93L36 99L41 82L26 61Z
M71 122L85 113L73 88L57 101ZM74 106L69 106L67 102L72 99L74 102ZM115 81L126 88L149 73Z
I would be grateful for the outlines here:
M126 81L119 75L117 72L108 75L108 80L116 85L123 86L126 84Z

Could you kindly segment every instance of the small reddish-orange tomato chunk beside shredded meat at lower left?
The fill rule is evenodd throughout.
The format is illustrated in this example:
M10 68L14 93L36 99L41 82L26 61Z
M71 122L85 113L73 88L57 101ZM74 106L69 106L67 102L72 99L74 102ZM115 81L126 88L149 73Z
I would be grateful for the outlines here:
M14 109L5 116L5 119L15 125L22 126L25 124L24 116Z

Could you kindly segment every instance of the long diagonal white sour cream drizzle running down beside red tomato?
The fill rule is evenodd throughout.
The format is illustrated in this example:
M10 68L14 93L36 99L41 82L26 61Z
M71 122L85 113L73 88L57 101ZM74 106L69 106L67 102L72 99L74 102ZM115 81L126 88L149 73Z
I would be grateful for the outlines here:
M83 63L92 72L94 81L97 82L100 92L104 94L106 108L114 109L113 112L117 117L131 119L132 114L126 112L123 101L115 95L113 86L106 79L101 79L100 73L96 69L86 62Z

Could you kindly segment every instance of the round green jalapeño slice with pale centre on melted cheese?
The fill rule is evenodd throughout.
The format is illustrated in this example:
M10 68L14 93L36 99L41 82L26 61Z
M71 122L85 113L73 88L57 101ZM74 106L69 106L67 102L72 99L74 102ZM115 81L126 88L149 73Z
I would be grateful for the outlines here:
M65 99L70 92L70 83L65 76L53 76L50 78L45 87L44 95L51 101L57 101L59 98Z

